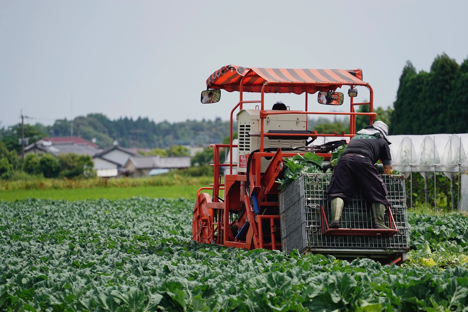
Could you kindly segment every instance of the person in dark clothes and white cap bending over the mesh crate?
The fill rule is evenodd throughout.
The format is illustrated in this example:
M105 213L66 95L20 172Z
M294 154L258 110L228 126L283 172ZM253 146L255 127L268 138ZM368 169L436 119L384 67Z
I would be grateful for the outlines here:
M384 174L392 173L392 157L388 145L388 126L376 121L372 126L358 131L344 149L328 187L328 201L331 206L331 228L340 227L343 207L347 206L357 189L361 189L367 205L372 206L377 229L388 229L383 217L385 207L390 206L387 187L374 167L379 159Z

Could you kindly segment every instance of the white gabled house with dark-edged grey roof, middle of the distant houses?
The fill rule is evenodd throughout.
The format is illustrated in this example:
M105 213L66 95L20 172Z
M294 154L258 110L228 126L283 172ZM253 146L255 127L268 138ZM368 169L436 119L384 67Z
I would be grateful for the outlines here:
M135 155L137 154L118 145L104 149L93 156L96 175L98 177L117 177L126 174L127 170L124 168L124 164L130 156Z

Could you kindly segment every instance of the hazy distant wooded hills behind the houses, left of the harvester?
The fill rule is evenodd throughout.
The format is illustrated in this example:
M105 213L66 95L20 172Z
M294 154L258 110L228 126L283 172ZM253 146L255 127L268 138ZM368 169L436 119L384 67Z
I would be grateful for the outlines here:
M234 130L236 126L234 125ZM56 120L53 125L45 126L41 123L24 125L24 136L28 143L35 142L41 137L70 136L71 121ZM101 113L90 113L73 119L73 135L80 135L89 141L95 138L99 148L112 146L117 140L125 148L160 148L166 149L173 145L207 145L220 143L229 135L229 121L216 118L214 121L187 120L182 122L168 121L154 122L148 118L132 119L121 117L110 120ZM21 124L0 128L1 140L8 150L21 151Z

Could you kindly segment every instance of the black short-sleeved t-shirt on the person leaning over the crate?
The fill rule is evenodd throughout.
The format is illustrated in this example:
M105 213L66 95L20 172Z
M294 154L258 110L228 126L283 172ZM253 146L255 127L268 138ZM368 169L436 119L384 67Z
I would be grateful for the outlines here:
M343 155L359 154L376 163L379 159L392 159L387 141L378 133L373 135L355 135L349 142Z

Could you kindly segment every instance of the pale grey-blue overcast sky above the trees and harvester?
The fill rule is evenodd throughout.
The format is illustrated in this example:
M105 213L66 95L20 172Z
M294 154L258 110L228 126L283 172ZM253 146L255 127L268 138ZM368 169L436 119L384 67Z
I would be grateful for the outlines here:
M238 92L200 103L208 76L227 64L361 68L374 105L388 107L407 60L429 71L444 52L467 58L467 11L468 1L429 0L0 0L0 128L18 123L21 110L44 124L88 113L228 120ZM304 106L303 95L265 100Z

